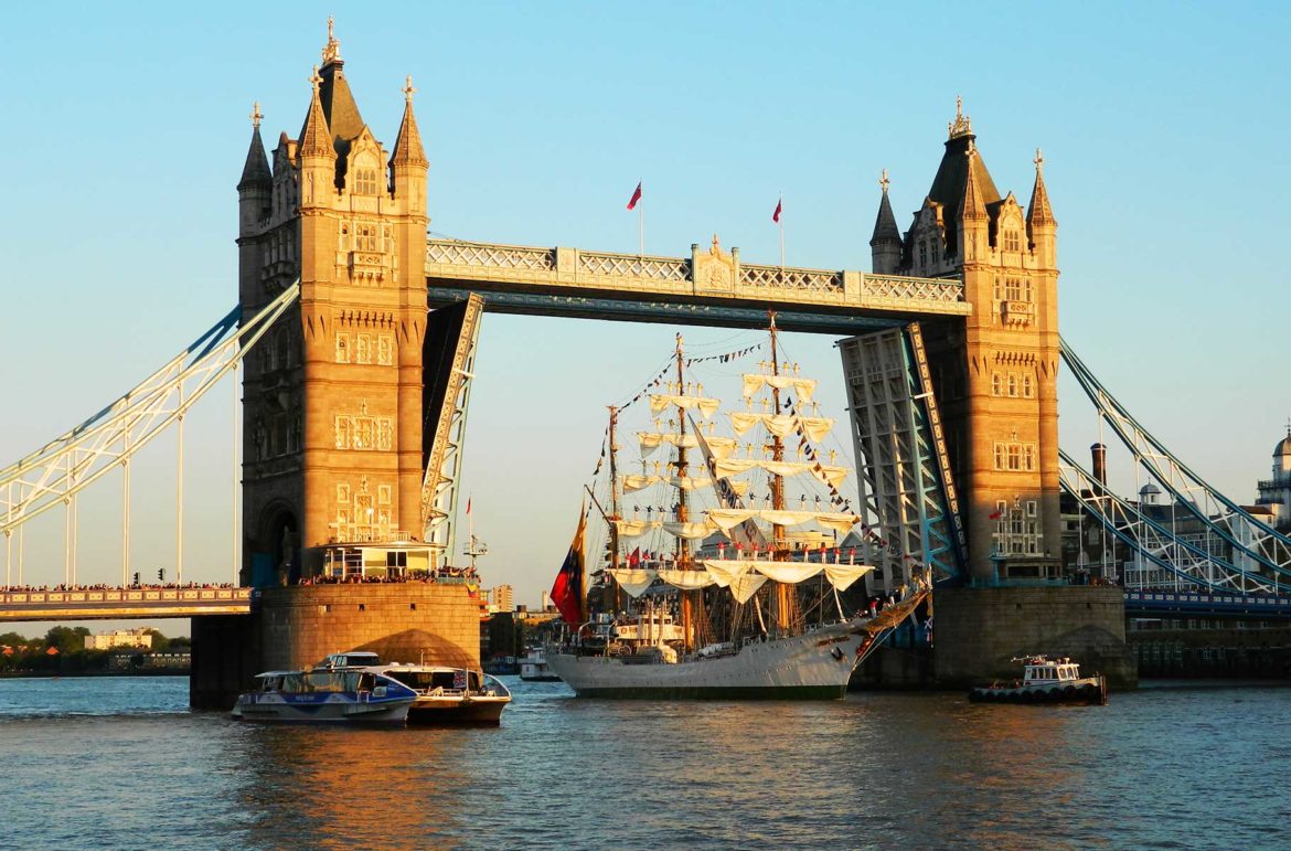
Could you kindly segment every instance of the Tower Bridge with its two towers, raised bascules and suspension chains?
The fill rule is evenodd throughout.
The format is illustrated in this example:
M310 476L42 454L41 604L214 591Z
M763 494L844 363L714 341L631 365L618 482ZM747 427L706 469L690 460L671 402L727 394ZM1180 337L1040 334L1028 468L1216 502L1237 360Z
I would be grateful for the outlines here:
M1155 546L1158 562L1161 546L1143 531L1162 531L1127 522L1123 505L1109 509L1103 486L1059 451L1059 365L1087 369L1059 337L1057 222L1039 151L1024 207L995 187L957 105L931 189L904 232L884 172L871 271L747 263L717 236L674 257L501 245L427 238L430 160L411 77L389 151L360 114L330 26L309 85L300 132L280 133L271 152L258 106L252 112L238 182L239 310L0 479L12 549L28 515L65 505L74 517L76 492L102 475L94 465L128 470L132 447L154 434L138 424L182 424L205 391L192 377L199 367L212 377L240 368L236 577L259 590L240 600L250 615L194 617L195 705L226 701L256 669L381 642L478 664L467 581L297 580L374 544L391 567L422 559L436 572L452 560L488 313L755 328L773 309L781 329L840 338L861 506L884 537L865 553L878 567L870 590L896 591L913 571L933 568L935 678L994 675L1043 650L1132 682L1123 589L1062 582L1060 495L1112 533L1139 535L1135 545ZM1103 400L1086 377L1091 399ZM147 416L137 405L151 405ZM1100 409L1126 422L1128 442L1144 440L1127 416ZM127 479L127 505L128 488ZM1243 591L1279 594L1291 549L1250 537L1226 573L1215 558L1179 569L1207 586L1221 586L1223 573L1238 576ZM128 557L127 540L123 586ZM915 675L892 665L887 677Z

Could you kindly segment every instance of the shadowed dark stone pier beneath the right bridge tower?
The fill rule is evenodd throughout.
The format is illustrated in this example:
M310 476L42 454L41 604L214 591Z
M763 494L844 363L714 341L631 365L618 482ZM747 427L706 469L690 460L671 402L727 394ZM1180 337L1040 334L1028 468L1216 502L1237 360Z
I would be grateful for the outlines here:
M1139 681L1119 588L940 589L933 624L939 686L1016 679L1021 666L1010 660L1028 653L1070 656L1082 674L1106 674L1113 688Z

